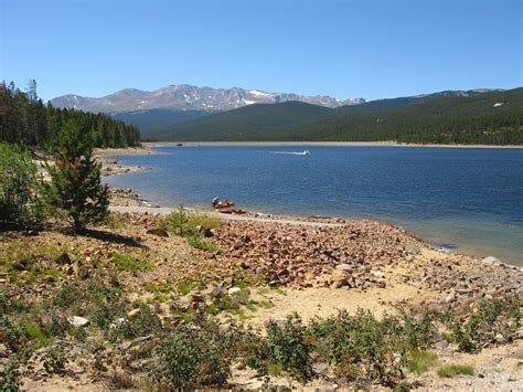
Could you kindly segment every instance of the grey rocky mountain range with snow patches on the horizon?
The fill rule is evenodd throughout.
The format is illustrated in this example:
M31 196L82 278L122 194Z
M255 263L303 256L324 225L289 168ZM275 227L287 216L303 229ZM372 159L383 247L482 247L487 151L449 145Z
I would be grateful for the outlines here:
M212 88L190 84L172 84L146 92L124 88L99 98L67 94L51 100L57 107L74 107L88 112L121 113L146 109L222 112L253 104L276 104L298 100L325 107L357 105L363 98L339 99L330 96L307 96L292 93L269 93L241 87Z

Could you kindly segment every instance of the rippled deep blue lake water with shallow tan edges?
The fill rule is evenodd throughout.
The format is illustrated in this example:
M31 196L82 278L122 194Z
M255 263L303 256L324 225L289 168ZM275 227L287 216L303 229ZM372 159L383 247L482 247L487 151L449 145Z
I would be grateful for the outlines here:
M310 156L274 155L302 151ZM434 245L523 265L523 149L161 147L106 178L164 206L214 197L265 213L393 221Z

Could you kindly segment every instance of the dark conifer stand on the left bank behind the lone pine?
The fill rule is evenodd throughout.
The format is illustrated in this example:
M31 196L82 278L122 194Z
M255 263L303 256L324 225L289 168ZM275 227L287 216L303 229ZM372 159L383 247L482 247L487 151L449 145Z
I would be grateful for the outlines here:
M140 141L136 126L108 115L44 104L38 97L35 81L30 81L26 92L12 82L0 84L0 141L46 146L53 144L62 125L73 118L92 135L95 147L134 147Z

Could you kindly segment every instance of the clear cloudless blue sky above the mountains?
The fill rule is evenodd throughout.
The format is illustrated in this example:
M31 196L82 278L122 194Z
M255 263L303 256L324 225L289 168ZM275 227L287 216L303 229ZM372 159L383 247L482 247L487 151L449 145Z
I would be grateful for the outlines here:
M396 97L523 85L520 0L0 0L0 78Z

